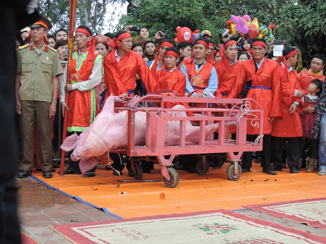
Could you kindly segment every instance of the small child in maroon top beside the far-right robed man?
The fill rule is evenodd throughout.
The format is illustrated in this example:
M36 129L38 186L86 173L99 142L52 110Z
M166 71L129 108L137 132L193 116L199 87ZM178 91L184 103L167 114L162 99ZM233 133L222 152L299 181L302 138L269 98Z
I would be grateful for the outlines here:
M307 143L308 151L309 151L309 163L307 172L313 173L315 172L316 162L318 158L318 146L319 139L313 139L312 129L315 122L315 106L318 103L319 96L322 93L323 82L319 79L313 79L308 86L309 94L304 96L303 103L304 109L300 115L301 125L302 125L302 133L303 136L300 138L299 146L300 146L300 159L299 159L299 169L302 165L302 158L304 154L305 145Z

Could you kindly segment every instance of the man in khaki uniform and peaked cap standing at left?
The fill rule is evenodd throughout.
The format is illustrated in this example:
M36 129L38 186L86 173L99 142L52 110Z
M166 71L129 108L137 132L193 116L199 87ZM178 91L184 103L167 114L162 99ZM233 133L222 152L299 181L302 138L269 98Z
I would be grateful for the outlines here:
M22 160L18 178L31 175L34 161L33 127L36 120L40 139L41 168L44 178L52 173L52 118L56 112L58 78L63 73L55 49L45 43L48 20L31 26L32 42L17 51L16 102L19 116Z

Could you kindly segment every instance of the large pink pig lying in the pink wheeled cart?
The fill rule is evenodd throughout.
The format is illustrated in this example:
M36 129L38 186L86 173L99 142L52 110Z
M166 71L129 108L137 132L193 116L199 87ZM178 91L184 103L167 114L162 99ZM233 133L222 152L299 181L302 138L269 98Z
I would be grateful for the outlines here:
M138 98L135 97L134 100ZM82 173L97 165L96 156L110 151L112 147L119 148L127 145L127 111L114 112L114 104L122 103L122 100L110 96L105 102L102 111L95 117L93 123L80 135L74 134L64 140L61 149L65 151L74 150L71 154L73 161L80 161ZM182 109L183 105L175 105L173 108ZM172 111L170 117L185 117L186 112ZM229 124L231 125L231 123ZM218 130L218 123L205 127L205 137ZM179 143L180 122L170 121L168 123L167 144ZM193 126L190 121L186 122L186 144L199 143L199 126ZM144 145L146 135L146 113L137 111L135 113L135 145ZM108 154L109 157L109 154Z

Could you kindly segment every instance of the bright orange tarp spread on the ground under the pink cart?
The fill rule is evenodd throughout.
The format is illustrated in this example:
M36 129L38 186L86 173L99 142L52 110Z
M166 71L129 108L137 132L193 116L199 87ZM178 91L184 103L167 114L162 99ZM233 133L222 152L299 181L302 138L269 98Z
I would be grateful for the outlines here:
M205 175L178 171L182 180L175 188L165 187L163 181L117 182L119 179L134 179L127 176L126 169L122 176L114 176L112 171L103 169L96 170L100 176L91 178L55 174L53 178L44 179L41 172L33 172L33 175L122 218L214 209L234 210L243 209L245 205L326 197L323 190L326 177L317 173L301 170L299 174L290 174L285 169L277 175L269 175L261 172L260 164L253 163L252 172L242 174L238 181L230 181L226 177L228 165L226 163L223 169L210 168ZM151 172L144 174L143 179L163 178L160 166L155 165ZM164 200L159 199L161 192L165 193Z

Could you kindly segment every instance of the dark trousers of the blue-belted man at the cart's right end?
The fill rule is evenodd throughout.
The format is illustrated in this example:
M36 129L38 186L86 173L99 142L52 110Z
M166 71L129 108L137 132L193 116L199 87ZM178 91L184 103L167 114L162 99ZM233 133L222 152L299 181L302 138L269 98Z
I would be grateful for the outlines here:
M257 135L247 135L247 141L254 141ZM265 134L263 137L263 150L261 151L261 163L263 169L271 167L271 135ZM282 166L282 165L281 165ZM242 158L242 168L249 169L252 167L252 152L244 152Z

